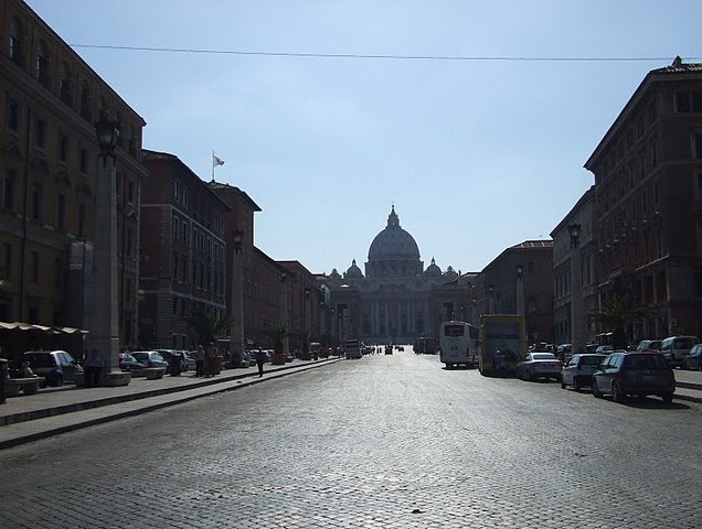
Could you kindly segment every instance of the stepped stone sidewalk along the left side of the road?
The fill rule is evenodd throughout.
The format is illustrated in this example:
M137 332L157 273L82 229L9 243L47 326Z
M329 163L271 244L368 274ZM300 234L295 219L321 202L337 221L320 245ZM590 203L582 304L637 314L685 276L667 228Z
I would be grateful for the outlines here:
M117 388L45 388L36 395L10 397L0 404L0 450L70 432L79 428L137 415L192 399L231 391L253 384L305 371L337 361L292 360L284 366L266 364L258 377L256 367L224 369L212 378L193 373L179 377L164 375L159 380L132 378Z

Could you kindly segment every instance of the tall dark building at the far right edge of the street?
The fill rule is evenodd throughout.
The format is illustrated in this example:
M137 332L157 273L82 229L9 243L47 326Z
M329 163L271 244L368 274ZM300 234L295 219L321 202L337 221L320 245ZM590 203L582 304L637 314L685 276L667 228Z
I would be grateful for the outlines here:
M702 64L649 72L585 168L600 301L630 292L653 309L635 339L702 335Z

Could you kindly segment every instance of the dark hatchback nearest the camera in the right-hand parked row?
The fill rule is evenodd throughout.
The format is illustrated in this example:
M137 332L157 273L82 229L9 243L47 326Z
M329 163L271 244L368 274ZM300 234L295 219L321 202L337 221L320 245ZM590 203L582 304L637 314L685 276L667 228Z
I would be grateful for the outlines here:
M615 350L593 374L593 395L611 393L616 402L624 402L628 395L658 395L670 402L674 391L676 376L660 353Z

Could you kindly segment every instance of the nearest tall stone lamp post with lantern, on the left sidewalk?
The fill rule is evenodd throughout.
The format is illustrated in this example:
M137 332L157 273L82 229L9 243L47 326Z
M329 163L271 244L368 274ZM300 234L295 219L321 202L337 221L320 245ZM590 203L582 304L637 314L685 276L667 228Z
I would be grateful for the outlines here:
M102 359L102 386L127 386L129 373L119 369L119 290L117 274L117 193L115 148L119 123L100 112L95 123L98 156L95 183L95 260L91 289L89 347Z

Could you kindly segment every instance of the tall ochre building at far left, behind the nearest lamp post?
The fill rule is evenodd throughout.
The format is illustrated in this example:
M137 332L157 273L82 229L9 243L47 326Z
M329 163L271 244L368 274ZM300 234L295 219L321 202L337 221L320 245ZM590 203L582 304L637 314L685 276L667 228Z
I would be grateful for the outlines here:
M0 321L89 330L99 148L116 118L119 334L137 333L143 119L24 2L0 9ZM74 352L78 355L82 352Z

